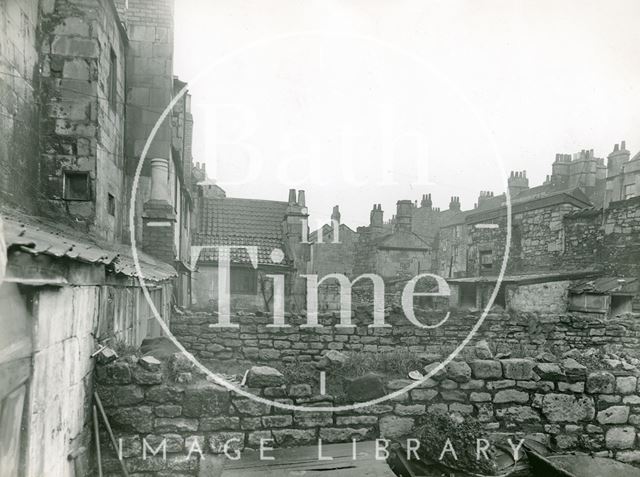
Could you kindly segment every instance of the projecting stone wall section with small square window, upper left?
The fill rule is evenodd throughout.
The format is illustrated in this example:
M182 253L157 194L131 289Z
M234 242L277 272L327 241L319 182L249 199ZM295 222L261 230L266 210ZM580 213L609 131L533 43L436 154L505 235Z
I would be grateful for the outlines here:
M53 6L41 19L43 212L119 240L126 34L110 0L58 0ZM69 173L88 174L86 194L69 195Z

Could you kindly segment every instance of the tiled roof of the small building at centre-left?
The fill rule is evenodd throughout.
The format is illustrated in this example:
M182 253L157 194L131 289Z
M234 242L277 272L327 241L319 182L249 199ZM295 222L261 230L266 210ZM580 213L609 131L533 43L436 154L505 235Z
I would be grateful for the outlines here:
M193 245L246 245L258 247L258 263L272 264L274 248L286 250L282 222L286 202L255 199L204 198ZM217 261L218 251L204 249L199 261ZM234 250L232 263L249 263L244 250Z

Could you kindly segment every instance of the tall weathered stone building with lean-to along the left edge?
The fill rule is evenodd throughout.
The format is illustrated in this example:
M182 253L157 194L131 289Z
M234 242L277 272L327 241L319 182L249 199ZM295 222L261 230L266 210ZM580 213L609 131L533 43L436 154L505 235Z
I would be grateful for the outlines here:
M128 212L147 136L184 87L173 2L8 0L0 24L2 471L78 475L94 352L161 333ZM165 321L189 301L191 122L185 95L152 141L134 207L140 269Z

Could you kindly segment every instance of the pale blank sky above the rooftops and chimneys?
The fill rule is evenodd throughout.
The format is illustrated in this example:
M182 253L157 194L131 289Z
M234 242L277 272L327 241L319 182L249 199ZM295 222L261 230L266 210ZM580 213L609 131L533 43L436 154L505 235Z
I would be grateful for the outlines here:
M556 153L640 150L640 2L176 0L194 161L229 197L310 224L385 219L431 193L463 209Z

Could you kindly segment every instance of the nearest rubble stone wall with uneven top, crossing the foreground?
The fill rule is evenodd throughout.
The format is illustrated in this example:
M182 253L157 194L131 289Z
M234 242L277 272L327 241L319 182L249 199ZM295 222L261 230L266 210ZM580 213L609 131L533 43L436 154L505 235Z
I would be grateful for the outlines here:
M435 365L427 364L425 370ZM497 360L486 349L476 350L468 362L454 361L433 379L391 400L332 412L284 409L237 395L195 373L177 354L167 364L129 357L99 367L97 392L122 443L128 470L145 475L198 475L203 456L204 462L211 462L210 454L223 460L238 454L242 458L246 450L261 446L419 437L415 428L432 410L473 416L490 439L536 435L555 450L585 450L638 462L638 371L626 362L624 366L627 371L589 373L572 358L560 363ZM369 374L346 387L347 394L352 386L365 400L409 384ZM246 386L254 395L287 405L351 402L317 395L306 383L287 383L268 367L251 368ZM118 472L109 441L101 442L106 472Z

